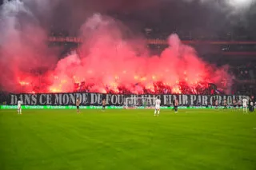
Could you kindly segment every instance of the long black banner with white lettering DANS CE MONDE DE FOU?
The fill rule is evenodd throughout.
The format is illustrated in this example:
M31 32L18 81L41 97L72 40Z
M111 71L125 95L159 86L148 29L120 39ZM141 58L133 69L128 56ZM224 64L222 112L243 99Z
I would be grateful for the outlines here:
M160 97L162 106L172 105L172 101L177 99L179 105L182 106L206 106L214 105L214 101L218 100L218 105L222 105L223 101L227 101L227 105L232 105L233 101L242 101L243 97L249 99L249 96L242 95L122 95L122 94L102 94L102 93L46 93L46 94L9 94L2 103L5 105L17 105L18 100L23 101L23 105L75 105L77 98L83 106L102 105L102 100L106 99L106 105L122 106L125 104L126 98L131 97L130 105L138 104L138 97L150 97L147 101L150 105L154 105L154 98Z

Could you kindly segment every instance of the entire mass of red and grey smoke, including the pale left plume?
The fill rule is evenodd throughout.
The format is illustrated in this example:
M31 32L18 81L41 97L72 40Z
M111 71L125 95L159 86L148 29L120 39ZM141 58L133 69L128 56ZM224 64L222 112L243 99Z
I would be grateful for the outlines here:
M0 84L6 91L72 92L77 83L98 93L158 93L160 85L172 93L181 93L184 86L190 87L188 93L197 93L208 83L222 85L223 79L229 79L226 68L202 61L177 34L170 35L160 56L150 56L145 39L134 37L122 22L90 12L79 14L80 21L86 21L78 23L84 41L80 53L57 61L57 53L46 45L47 30L39 18L49 24L47 18L60 2L54 1L50 8L47 2L15 0L2 6ZM31 6L42 6L42 11L34 12ZM74 16L70 13L70 18Z

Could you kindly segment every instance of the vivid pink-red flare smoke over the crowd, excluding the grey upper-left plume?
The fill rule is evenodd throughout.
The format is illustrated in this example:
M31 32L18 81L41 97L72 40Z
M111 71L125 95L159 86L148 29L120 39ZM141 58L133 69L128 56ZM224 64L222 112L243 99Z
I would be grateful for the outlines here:
M82 26L84 42L79 55L73 53L59 60L54 69L48 67L40 77L23 71L16 62L11 65L15 69L8 68L11 86L7 87L3 80L1 85L10 92L22 93L202 93L208 83L219 85L222 78L229 77L224 69L202 61L192 47L182 44L177 34L170 35L169 47L160 56L150 56L142 39L126 38L123 30L126 27L114 19L94 14ZM42 43L35 48L42 49L39 45ZM22 46L16 51L17 55L22 52L19 57L38 56L34 49ZM43 49L50 50L45 46ZM44 62L45 54L40 53L40 62Z

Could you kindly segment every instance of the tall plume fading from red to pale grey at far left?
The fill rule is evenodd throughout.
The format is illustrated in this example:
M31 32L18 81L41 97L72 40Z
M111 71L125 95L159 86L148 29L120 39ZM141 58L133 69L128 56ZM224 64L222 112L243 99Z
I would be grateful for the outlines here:
M37 83L35 70L50 69L57 57L47 47L47 34L21 1L6 1L0 10L0 84L7 91Z

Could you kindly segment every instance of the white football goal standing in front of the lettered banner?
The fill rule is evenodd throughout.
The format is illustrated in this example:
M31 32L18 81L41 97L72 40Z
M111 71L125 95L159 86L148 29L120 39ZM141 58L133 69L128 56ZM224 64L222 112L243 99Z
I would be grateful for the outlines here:
M136 109L136 108L154 108L156 98L155 97L126 97L124 101L124 108Z

